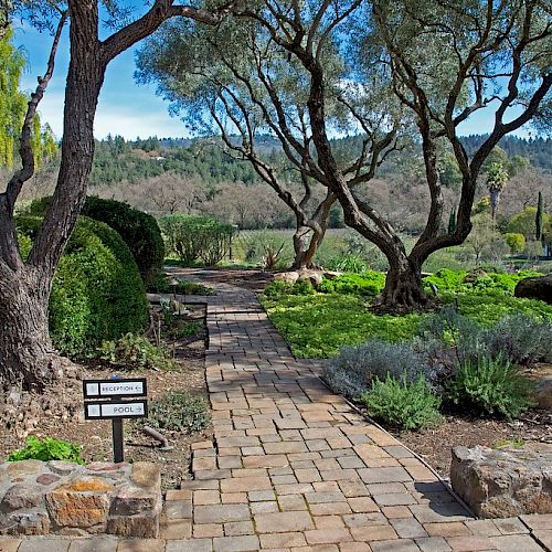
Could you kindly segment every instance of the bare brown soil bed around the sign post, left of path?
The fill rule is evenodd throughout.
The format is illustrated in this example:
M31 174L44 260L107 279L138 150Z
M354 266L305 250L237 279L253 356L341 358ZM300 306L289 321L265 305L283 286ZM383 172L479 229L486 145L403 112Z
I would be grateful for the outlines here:
M148 397L160 399L169 392L185 391L193 395L206 397L204 375L204 351L206 340L205 307L192 306L192 312L182 317L182 321L197 325L198 332L177 341L168 341L168 349L176 351L176 370L114 370L95 363L83 367L86 379L105 379L112 375L120 378L146 378L148 381ZM67 391L70 390L70 391ZM83 403L79 385L61 386L64 402L71 402L66 393L73 393L75 403ZM55 397L50 397L55 399ZM147 424L147 420L145 421ZM144 435L138 423L125 421L125 459L128 461L153 461L161 469L163 489L176 488L181 479L190 477L190 444L211 438L211 428L188 435L185 432L169 432L161 429L168 437L172 450L159 450L159 443ZM38 437L53 437L84 445L83 457L86 463L113 460L112 423L110 421L85 421L83 416L75 423L73 420L62 420L56 416L41 415L38 425L31 432ZM15 431L4 431L0 435L0 458L4 459L15 448L24 445L22 435Z

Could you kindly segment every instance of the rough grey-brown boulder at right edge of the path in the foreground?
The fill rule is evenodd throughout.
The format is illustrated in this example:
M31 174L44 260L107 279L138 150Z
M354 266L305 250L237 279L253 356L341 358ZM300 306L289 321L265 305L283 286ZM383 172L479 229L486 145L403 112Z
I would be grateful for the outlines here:
M552 513L552 445L455 447L450 482L480 518Z

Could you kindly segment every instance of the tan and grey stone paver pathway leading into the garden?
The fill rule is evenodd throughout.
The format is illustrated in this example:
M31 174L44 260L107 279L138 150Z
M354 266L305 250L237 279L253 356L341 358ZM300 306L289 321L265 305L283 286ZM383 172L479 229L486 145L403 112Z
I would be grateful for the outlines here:
M552 514L474 519L330 392L318 363L293 358L253 293L216 287L206 298L215 438L193 446L194 479L167 493L162 539L3 539L0 551L552 551Z

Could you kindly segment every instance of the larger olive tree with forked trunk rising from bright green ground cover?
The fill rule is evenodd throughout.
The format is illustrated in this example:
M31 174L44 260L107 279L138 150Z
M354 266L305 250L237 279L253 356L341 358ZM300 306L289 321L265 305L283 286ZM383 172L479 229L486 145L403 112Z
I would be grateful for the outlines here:
M526 0L452 4L326 0L316 6L267 0L238 17L258 22L291 63L297 61L308 74L306 113L317 169L341 203L346 224L388 258L382 307L399 311L426 307L431 301L422 285L423 263L468 236L477 178L488 155L501 137L533 117L540 116L542 123L550 113L550 8ZM343 31L348 21L350 33ZM325 52L333 47L349 49L352 56L349 78L342 78L348 87L391 87L414 118L431 202L425 227L410 253L376 206L359 199L358 179L348 178L335 156L329 118L333 79L325 63ZM498 79L505 85L498 85ZM354 106L350 107L354 116ZM512 114L512 108L520 113ZM468 159L458 127L482 109L492 114L493 126ZM449 144L443 150L453 150L461 173L457 225L450 234L443 223L439 141Z

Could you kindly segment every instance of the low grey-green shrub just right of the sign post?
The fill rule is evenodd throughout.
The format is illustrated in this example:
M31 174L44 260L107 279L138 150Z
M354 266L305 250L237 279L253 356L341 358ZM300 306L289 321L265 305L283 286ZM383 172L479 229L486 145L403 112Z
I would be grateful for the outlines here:
M171 432L192 434L210 423L209 404L204 397L187 392L172 392L151 402L148 425Z

